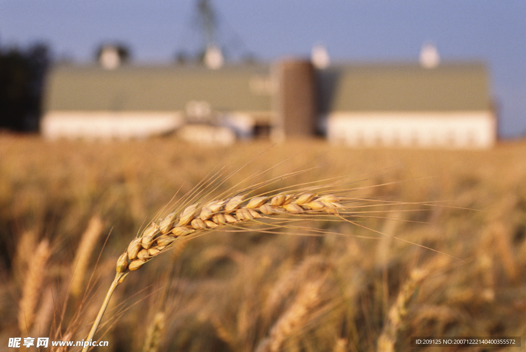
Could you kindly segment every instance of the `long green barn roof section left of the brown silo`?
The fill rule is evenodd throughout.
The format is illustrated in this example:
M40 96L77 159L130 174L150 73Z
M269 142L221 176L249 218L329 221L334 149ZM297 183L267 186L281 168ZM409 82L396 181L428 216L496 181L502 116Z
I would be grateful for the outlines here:
M205 100L218 111L269 111L269 94L251 89L251 81L268 76L258 65L57 66L47 76L45 109L169 111Z

